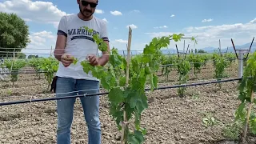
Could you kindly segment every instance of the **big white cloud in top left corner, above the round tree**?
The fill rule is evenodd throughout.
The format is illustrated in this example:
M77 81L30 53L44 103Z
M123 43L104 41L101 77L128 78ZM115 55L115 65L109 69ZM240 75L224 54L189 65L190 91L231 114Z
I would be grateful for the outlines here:
M0 2L0 11L18 14L26 21L50 23L55 27L66 12L59 10L52 2L31 0L9 0Z

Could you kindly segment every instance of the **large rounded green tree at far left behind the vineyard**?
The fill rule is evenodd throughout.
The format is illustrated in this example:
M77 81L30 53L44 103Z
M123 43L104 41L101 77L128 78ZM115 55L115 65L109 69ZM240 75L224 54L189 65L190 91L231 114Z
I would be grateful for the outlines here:
M15 52L20 52L29 42L29 30L26 22L17 14L0 12L0 47L15 48ZM0 52L0 56L10 57L13 55L11 52L14 49L1 51L5 52Z

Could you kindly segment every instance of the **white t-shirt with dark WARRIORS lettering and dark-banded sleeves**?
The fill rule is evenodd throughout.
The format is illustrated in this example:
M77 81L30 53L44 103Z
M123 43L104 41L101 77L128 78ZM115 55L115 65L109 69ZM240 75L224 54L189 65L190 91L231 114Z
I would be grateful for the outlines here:
M87 26L93 29L94 32L90 33L84 28L80 30L82 26ZM56 76L98 81L98 78L94 78L91 73L86 74L80 64L82 60L86 60L88 54L98 56L98 45L93 41L94 33L98 33L99 37L106 41L109 40L106 22L102 19L94 17L90 21L84 21L78 17L78 14L66 15L61 18L57 34L66 36L65 53L78 58L78 62L76 65L72 63L68 67L63 66L62 62L59 62Z

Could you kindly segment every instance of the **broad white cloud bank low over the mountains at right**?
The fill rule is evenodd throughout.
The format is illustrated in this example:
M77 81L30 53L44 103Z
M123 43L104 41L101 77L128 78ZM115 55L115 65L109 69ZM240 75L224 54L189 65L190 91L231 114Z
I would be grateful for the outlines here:
M235 45L243 45L251 42L252 38L256 34L256 18L247 23L234 23L230 25L220 26L200 26L200 27L186 27L180 32L175 34L185 34L185 37L196 37L198 40L198 48L204 48L208 46L218 47L218 40L221 39L222 48L232 46L231 38L234 40ZM161 31L156 33L146 33L151 38L167 36L174 34L172 31ZM186 40L186 43L190 40ZM173 41L170 42L170 46L174 48ZM178 42L178 47L183 47L183 41Z

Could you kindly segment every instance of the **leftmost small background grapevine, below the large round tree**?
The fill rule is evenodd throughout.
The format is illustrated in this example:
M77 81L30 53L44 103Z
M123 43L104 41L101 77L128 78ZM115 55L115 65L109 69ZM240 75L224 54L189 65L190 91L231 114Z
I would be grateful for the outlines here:
M3 66L6 66L8 70L10 70L10 80L11 82L16 82L18 80L18 71L26 66L26 61L24 59L17 59L17 58L12 58L12 59L5 59Z

